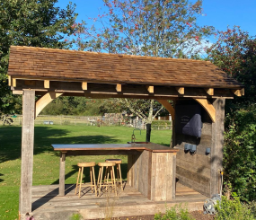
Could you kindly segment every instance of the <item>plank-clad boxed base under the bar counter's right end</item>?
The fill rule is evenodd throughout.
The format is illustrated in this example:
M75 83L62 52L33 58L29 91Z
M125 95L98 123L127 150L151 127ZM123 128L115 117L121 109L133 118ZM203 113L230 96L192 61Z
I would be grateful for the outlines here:
M175 198L176 153L143 151L128 155L128 184L148 199Z

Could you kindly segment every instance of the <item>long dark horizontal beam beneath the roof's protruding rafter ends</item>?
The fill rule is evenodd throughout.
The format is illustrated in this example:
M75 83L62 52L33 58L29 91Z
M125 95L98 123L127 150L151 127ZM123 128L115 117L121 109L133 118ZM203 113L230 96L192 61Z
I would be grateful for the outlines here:
M28 84L28 82L30 82ZM83 90L81 82L50 82L50 88L44 88L44 81L27 81L17 80L17 87L12 87L13 91L22 91L23 89L31 89L36 92L59 92L73 93L75 96L90 96L91 94L107 94L110 96L153 98L153 99L172 99L173 97L181 97L176 87L154 86L154 93L148 92L146 86L138 84L121 84L121 92L117 92L117 84L87 84L87 90ZM153 91L152 91L153 92ZM77 94L76 94L77 93ZM82 93L82 94L81 94ZM233 99L234 93L225 89L215 89L215 94L209 96L204 88L186 87L184 98L218 98Z

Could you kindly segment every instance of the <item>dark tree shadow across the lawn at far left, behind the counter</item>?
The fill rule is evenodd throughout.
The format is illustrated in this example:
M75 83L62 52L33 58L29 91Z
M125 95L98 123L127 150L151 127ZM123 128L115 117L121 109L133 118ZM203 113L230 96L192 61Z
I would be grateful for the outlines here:
M118 141L114 136L67 136L68 134L66 129L35 127L34 154L53 152L52 144L114 144ZM4 143L0 147L0 163L20 158L22 128L1 127L0 143Z

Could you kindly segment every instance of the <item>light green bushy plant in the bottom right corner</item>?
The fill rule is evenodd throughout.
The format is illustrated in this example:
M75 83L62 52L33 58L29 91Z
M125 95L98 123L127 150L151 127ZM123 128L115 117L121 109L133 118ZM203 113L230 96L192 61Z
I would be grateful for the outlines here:
M228 200L222 197L221 202L217 201L216 220L255 220L251 210L243 206L239 198Z

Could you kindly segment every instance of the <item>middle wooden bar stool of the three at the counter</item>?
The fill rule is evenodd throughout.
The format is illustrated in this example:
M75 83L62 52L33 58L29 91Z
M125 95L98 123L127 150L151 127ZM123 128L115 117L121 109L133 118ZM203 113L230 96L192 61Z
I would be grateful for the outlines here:
M98 163L98 166L100 167L99 176L98 176L98 184L97 184L98 185L98 190L99 190L99 195L100 195L100 192L102 190L102 187L106 187L106 189L108 190L108 187L110 186L109 183L111 184L112 190L115 191L116 196L118 195L117 194L115 171L114 171L114 166L115 165L116 165L116 163L114 163L114 162ZM103 182L102 182L104 167L106 168L106 172L105 172L104 179L103 179ZM111 178L110 182L109 182L109 176Z

